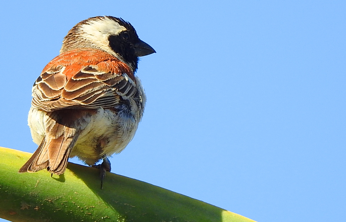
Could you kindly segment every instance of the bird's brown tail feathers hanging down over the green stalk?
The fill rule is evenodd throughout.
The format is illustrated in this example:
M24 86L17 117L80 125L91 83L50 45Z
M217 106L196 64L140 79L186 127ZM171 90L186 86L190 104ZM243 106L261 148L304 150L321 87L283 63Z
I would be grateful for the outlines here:
M73 118L73 113L75 110L67 116L57 111L48 115L46 135L33 156L19 169L20 173L42 169L57 175L65 172L72 148L90 120L85 115Z

